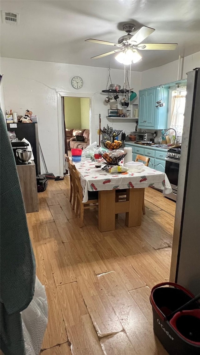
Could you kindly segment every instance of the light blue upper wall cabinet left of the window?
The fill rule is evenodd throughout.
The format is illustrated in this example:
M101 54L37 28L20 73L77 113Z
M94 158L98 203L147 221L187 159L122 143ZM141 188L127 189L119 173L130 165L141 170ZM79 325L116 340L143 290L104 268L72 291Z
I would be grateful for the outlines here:
M159 86L139 91L139 119L138 128L167 129L169 90L164 88L165 106L156 107L160 98ZM162 89L163 102L163 89Z

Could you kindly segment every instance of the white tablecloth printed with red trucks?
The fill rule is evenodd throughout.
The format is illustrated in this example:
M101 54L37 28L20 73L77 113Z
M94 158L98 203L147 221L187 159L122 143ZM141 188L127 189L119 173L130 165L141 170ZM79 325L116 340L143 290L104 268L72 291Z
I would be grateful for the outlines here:
M97 169L91 160L75 163L75 166L83 187L83 202L88 201L88 191L157 187L165 193L172 192L167 175L148 166L144 166L142 173L128 172L126 175L110 174Z

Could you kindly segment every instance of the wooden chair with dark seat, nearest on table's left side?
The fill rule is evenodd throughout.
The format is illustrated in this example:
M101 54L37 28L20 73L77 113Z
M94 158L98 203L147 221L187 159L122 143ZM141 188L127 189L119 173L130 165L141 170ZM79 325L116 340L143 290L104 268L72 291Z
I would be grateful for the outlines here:
M98 204L98 191L88 191L88 201L87 202L82 202L83 201L83 189L80 183L80 177L79 173L75 167L73 166L73 173L75 177L75 183L76 183L76 192L77 192L77 205L76 205L76 213L75 215L77 216L80 210L80 228L83 227L83 218L84 218L84 209L85 208L91 208L95 204ZM94 198L95 197L95 198ZM92 206L90 204L93 203Z

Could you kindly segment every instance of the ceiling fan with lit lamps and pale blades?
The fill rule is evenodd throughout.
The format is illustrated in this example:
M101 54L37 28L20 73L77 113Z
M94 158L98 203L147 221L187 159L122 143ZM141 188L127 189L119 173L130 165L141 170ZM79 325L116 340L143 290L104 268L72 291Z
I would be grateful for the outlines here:
M119 49L112 50L104 54L96 55L91 59L99 59L107 55L119 53L115 59L123 64L136 63L141 60L142 57L138 53L139 50L174 50L177 48L177 43L141 43L151 33L155 31L154 28L142 26L134 35L131 32L135 29L135 25L132 23L125 23L123 30L127 33L118 39L118 43L106 42L99 39L86 39L85 42L99 43L112 45Z

